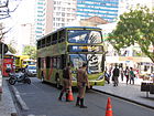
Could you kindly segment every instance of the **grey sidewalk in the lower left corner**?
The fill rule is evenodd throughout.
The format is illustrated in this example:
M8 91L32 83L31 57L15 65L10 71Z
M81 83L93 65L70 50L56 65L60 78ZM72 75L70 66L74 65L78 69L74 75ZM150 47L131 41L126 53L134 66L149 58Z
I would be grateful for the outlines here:
M1 76L1 73L0 73ZM14 115L11 115L14 114ZM0 101L0 116L15 116L16 109L6 78L2 80L2 96Z

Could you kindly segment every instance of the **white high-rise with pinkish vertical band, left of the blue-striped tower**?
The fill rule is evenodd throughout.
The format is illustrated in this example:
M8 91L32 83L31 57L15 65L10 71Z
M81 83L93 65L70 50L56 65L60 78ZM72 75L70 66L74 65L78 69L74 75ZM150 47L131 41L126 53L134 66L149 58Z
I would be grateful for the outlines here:
M36 35L40 39L76 19L76 0L37 0Z

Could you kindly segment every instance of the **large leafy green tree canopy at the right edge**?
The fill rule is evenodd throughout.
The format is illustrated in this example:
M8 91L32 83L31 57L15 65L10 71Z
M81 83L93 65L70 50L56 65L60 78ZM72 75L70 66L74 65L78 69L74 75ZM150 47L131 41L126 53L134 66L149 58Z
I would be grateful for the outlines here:
M154 10L138 6L120 15L117 29L109 34L109 42L120 53L121 49L139 44L141 51L154 62ZM150 50L150 46L153 50Z

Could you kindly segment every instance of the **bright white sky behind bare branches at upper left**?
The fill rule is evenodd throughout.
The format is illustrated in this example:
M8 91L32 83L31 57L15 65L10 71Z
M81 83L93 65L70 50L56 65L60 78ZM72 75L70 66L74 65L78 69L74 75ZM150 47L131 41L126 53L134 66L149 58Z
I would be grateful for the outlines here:
M4 40L7 43L10 42L10 40L15 40L19 25L24 23L34 23L35 0L19 0L18 2L10 0L10 11L12 11L18 4L18 9L10 13L11 17L3 20L7 30L12 28Z

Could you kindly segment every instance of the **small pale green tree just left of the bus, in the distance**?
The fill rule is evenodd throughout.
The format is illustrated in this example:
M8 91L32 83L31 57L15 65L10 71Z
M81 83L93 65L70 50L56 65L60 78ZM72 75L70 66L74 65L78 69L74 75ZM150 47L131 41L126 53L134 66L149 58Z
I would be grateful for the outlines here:
M32 45L25 45L22 54L29 55L30 59L35 60L36 59L36 48L32 46Z

